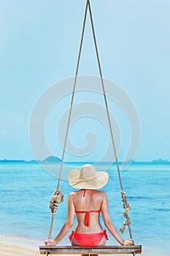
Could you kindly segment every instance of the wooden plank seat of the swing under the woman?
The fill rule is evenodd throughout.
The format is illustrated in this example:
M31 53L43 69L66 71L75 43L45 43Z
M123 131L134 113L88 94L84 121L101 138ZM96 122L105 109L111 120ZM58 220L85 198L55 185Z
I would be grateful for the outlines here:
M132 246L96 246L96 247L83 247L83 246L39 246L41 255L121 255L121 254L141 254L141 245Z

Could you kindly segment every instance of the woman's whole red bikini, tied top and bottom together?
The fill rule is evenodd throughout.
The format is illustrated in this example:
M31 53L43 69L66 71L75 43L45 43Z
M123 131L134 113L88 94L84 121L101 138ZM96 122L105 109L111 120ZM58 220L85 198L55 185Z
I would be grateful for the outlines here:
M85 192L83 194L83 197L85 197ZM97 211L76 211L76 214L85 214L85 226L89 227L90 224L90 213L98 213L100 214L101 210ZM77 234L72 231L71 235L69 236L69 240L72 241L72 237L74 237L77 240L77 243L80 244L80 246L98 246L100 243L101 239L105 236L107 240L107 230L104 230L103 232L100 233L88 233L88 234Z

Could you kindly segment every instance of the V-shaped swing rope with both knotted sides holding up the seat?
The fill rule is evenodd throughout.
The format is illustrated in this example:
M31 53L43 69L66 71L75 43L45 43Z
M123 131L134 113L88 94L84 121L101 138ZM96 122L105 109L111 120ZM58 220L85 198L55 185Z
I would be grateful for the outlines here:
M63 168L63 158L64 158L64 154L65 154L65 151L66 151L66 142L67 142L67 138L68 138L68 135L69 135L69 125L70 125L70 120L71 120L71 116L72 116L72 106L73 106L73 102L74 102L74 93L75 93L76 84L77 84L77 75L78 75L78 70L79 70L79 65L80 65L82 42L83 42L83 37L84 37L84 32L85 32L85 21L86 21L86 18L87 18L88 10L89 10L89 13L90 13L90 23L91 23L91 28L92 28L92 31L93 31L93 40L94 40L95 49L96 49L96 57L97 57L97 61L98 61L98 69L99 69L99 74L100 74L100 78L101 78L102 91L103 91L103 94L104 94L104 102L105 102L105 106L106 106L106 110L107 110L109 130L110 130L111 139L112 139L112 147L113 147L113 151L114 151L114 154L115 154L117 173L118 173L118 177L119 177L119 181L120 181L120 188L121 188L120 193L121 193L121 196L122 196L123 208L125 209L125 211L123 212L123 217L125 217L126 220L125 220L125 222L123 222L123 227L120 228L120 232L124 233L125 227L128 226L129 236L130 236L130 238L132 238L131 226L130 226L131 225L131 220L128 217L128 211L131 209L131 206L128 204L127 197L125 195L125 192L123 191L123 184L122 184L122 179L121 179L121 176L120 176L120 168L119 168L119 164L118 164L118 160L117 160L117 151L116 151L116 147L115 147L115 140L114 140L114 135L113 135L113 132L112 132L112 124L111 124L111 120L110 120L110 116L109 116L107 96L106 96L106 92L105 92L105 88L104 88L104 79L103 79L103 75L102 75L102 72L101 72L101 64L100 64L99 55L98 55L98 47L97 47L96 35L95 35L95 31L94 31L94 26L93 26L93 16L92 16L91 8L90 8L90 0L87 0L86 7L85 7L85 17L84 17L83 26L82 26L82 37L81 37L81 41L80 41L80 50L79 50L79 55L78 55L78 59L77 59L77 69L76 69L76 74L75 74L75 77L74 77L72 100L71 100L71 105L70 105L70 110L69 110L68 123L67 123L67 127L66 127L66 137L65 137L64 145L63 145L63 154L62 154L62 158L61 158L61 168L60 168L60 173L59 173L59 177L58 177L58 187L55 189L55 192L54 192L54 194L53 194L53 196L50 200L50 209L51 209L51 212L52 212L52 220L51 220L50 232L49 232L49 236L48 236L49 239L51 238L51 234L52 234L52 230L53 230L53 222L54 222L55 212L58 208L58 203L61 203L63 201L63 193L61 192L61 189L59 189L59 186L60 186L61 173L62 173L62 168Z

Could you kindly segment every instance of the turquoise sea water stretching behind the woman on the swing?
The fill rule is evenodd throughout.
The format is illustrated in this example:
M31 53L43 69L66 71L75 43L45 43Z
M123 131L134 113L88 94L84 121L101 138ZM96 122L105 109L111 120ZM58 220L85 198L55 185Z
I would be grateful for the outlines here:
M59 166L55 165L55 168L57 170ZM66 177L67 170L64 171ZM109 182L102 190L108 196L112 222L119 229L125 219L116 167L110 167L108 173ZM143 245L142 255L169 255L170 165L136 163L122 171L121 176L131 205L132 236L136 244ZM0 177L0 233L45 240L51 218L49 200L58 179L36 163L1 163ZM72 191L64 179L61 179L60 187L65 200L58 208L53 236L66 219L67 197ZM101 225L104 227L102 219ZM128 228L123 238L128 238ZM68 238L61 244L69 244ZM109 244L117 244L111 235Z

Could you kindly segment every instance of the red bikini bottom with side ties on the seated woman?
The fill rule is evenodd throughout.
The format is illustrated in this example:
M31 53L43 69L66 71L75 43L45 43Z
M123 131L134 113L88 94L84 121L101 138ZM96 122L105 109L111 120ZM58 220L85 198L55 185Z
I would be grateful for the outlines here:
M77 234L72 231L71 235L69 236L69 240L72 241L72 238L74 237L80 246L98 246L104 236L107 240L109 240L107 230L104 230L101 233L90 234Z

